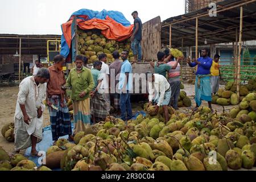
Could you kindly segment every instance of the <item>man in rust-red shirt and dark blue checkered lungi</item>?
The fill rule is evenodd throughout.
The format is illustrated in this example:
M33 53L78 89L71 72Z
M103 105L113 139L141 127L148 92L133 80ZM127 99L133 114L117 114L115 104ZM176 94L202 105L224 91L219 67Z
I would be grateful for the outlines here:
M62 71L65 58L61 55L54 57L54 65L48 68L49 82L47 84L47 105L49 109L52 140L56 143L59 137L69 135L69 140L73 140L71 130L71 119L67 102L65 101L65 91L61 86L65 84L65 77Z

